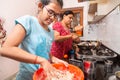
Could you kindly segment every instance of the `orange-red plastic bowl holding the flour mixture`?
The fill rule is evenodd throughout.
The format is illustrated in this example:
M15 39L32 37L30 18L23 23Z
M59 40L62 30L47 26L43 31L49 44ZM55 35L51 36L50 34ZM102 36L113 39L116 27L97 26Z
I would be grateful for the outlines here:
M58 69L58 70L68 70L71 73L74 74L74 79L73 80L84 80L84 74L82 70L74 65L69 64L68 67L66 67L64 64L59 63L59 64L53 64L53 66ZM33 75L33 80L45 80L46 74L42 68L38 69L34 75Z

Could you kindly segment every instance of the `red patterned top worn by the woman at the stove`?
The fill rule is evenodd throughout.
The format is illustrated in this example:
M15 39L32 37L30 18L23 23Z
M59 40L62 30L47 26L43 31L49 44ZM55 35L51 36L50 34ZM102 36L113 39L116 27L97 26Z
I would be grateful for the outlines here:
M56 22L53 25L53 30L56 30L60 33L61 36L70 34L70 31L65 30L60 22ZM57 58L63 58L64 54L67 54L72 48L72 38L69 38L62 42L54 41L51 47L51 54Z

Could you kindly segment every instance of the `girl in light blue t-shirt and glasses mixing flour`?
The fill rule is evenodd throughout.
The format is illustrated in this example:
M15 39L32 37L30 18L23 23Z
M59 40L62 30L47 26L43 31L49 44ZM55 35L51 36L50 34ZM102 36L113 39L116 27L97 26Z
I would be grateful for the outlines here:
M55 75L56 69L49 61L63 61L49 56L53 31L48 25L57 17L62 6L62 0L40 0L36 17L26 15L15 20L16 26L0 48L0 54L21 61L16 80L32 80L39 67L49 75Z

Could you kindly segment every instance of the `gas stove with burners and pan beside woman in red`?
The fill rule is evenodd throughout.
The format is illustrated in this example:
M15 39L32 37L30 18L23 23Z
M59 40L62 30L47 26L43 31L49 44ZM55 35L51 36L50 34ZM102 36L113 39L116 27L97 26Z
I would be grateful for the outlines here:
M113 50L109 49L101 42L98 41L81 41L78 44L79 54L82 57L94 57L98 60L104 60L107 58L117 57L117 53ZM76 58L80 59L81 56L76 56Z

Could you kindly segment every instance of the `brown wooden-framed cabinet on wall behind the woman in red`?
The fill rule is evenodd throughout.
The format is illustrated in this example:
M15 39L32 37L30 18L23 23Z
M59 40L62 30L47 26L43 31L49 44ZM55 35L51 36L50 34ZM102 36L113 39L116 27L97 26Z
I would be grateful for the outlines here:
M62 12L66 10L72 10L74 12L74 19L71 27L83 26L83 7L74 7L74 8L64 8ZM79 36L83 36L83 29L80 30Z

